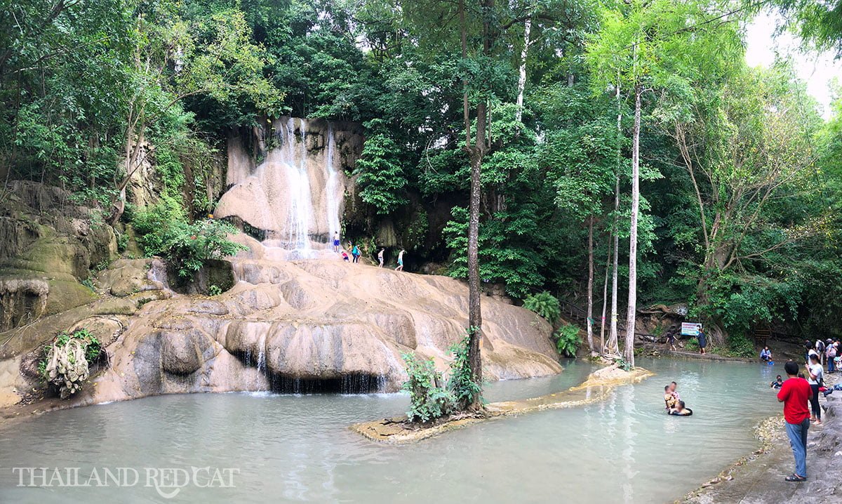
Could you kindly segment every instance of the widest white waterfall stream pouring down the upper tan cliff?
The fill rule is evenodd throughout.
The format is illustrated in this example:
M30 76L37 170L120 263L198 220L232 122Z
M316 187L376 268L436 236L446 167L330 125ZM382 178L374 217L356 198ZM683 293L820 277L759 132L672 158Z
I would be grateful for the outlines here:
M286 121L282 163L286 170L289 186L289 222L287 223L286 248L310 249L310 219L313 215L310 177L307 174L306 122L299 119L300 153L296 156L296 124L290 117Z

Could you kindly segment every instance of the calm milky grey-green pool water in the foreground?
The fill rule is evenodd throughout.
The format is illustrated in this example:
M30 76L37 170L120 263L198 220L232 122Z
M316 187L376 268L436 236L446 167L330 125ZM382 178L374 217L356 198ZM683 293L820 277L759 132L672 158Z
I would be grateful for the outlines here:
M657 376L602 403L488 421L411 446L376 444L347 428L400 414L403 394L170 395L57 411L0 425L0 502L667 502L753 450L757 421L781 410L768 384L781 365L638 364ZM557 377L491 383L486 396L555 392L590 370L569 362ZM663 385L673 379L694 416L664 415ZM144 468L191 466L238 469L235 487L188 485L166 499L152 486L160 477L145 486ZM141 480L19 488L10 467L79 467L83 481L93 468L130 467Z

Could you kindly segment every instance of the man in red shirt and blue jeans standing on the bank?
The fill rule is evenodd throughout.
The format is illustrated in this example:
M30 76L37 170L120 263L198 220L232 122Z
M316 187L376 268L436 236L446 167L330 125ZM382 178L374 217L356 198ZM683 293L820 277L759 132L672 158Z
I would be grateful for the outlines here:
M784 404L786 435L790 438L792 454L795 456L795 472L786 476L787 481L807 480L807 429L810 428L810 411L807 403L813 394L810 384L798 378L798 365L789 361L784 364L789 378L781 385L778 400Z

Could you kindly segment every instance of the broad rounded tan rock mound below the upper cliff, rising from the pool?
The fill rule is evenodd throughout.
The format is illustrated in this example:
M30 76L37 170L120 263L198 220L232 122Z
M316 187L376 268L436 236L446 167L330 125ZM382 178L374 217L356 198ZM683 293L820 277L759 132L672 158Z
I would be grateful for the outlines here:
M401 354L446 369L467 324L459 281L352 265L280 261L256 240L232 259L237 284L213 298L151 301L108 347L113 363L92 400L227 390L396 391ZM258 258L258 259L255 259ZM265 273L265 274L264 274ZM561 370L550 327L523 308L482 299L483 375Z

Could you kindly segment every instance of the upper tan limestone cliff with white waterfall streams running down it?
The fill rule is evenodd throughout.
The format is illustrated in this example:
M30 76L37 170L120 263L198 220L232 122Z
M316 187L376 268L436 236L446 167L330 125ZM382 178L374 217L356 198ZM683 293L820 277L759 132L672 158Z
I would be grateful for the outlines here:
M270 244L312 256L305 251L323 248L341 231L348 174L362 151L359 126L289 117L267 125L255 128L251 152L242 137L229 139L230 189L214 213Z

